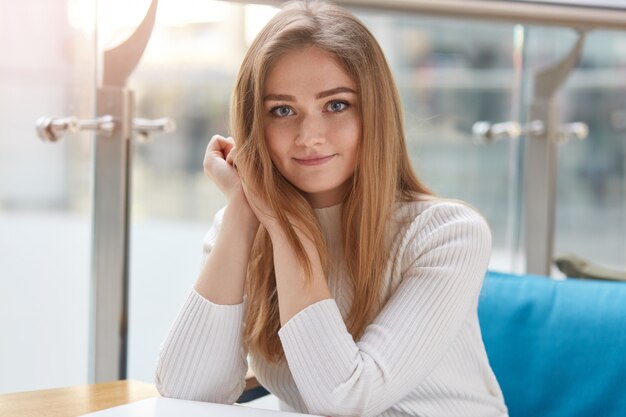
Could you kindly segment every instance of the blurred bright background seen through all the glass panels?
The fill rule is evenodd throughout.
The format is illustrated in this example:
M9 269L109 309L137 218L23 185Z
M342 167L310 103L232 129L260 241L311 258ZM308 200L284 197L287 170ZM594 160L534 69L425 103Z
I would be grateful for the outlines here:
M148 4L0 0L0 392L87 383L93 137L44 143L34 123L93 117L101 53L134 30ZM566 55L576 32L352 10L392 67L418 175L487 218L491 269L524 272L524 138L480 144L472 126L525 121L533 74ZM225 203L203 175L204 149L228 133L236 71L275 12L159 2L129 87L137 116L168 116L178 128L133 149L130 379L152 381L159 345L195 281L202 238ZM589 136L559 147L555 255L623 270L626 32L588 34L558 101L561 120L587 123Z

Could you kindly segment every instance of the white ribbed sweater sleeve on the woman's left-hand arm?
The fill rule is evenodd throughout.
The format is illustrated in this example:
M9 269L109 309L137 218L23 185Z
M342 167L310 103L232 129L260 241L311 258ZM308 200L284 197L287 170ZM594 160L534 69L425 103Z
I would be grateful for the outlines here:
M203 246L203 262L221 223L216 215ZM245 387L245 301L218 305L192 291L166 337L155 382L164 397L232 404Z

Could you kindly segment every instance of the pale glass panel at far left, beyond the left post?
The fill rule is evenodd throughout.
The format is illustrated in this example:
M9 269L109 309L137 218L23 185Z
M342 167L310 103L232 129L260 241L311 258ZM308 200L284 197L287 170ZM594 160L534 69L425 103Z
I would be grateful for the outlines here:
M0 0L0 392L87 382L95 1Z

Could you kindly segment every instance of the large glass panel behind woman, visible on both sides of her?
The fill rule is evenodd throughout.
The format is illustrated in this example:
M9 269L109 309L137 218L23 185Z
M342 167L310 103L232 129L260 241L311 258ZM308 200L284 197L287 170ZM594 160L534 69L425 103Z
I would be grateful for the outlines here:
M132 379L152 380L158 346L196 279L203 235L225 204L203 175L204 150L212 134L227 133L238 65L248 42L273 13L266 6L202 4L198 9L188 7L188 1L159 3L157 26L131 77L137 115L170 116L178 124L176 133L135 149ZM477 146L471 128L479 120L517 120L518 29L357 13L380 40L395 73L418 173L437 194L478 207L493 228L492 267L510 269L516 242L517 143Z

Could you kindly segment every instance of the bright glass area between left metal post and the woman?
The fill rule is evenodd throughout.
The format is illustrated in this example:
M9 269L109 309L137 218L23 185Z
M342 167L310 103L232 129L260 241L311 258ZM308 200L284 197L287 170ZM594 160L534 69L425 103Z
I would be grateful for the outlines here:
M161 0L152 38L130 78L138 117L177 123L175 133L134 149L131 379L152 381L159 345L195 282L204 234L225 205L202 160L211 135L228 133L247 22L244 5Z

